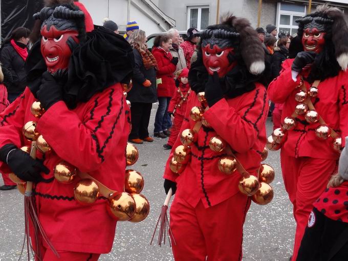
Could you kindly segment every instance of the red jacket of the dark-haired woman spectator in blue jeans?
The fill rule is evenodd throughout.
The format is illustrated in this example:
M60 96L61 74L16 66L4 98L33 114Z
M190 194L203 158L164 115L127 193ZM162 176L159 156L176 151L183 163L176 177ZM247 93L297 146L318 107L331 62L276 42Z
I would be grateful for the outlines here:
M162 48L154 47L152 53L158 64L156 77L157 79L162 79L162 83L157 85L157 96L172 97L176 90L173 73L177 67L171 63L171 54L169 52L166 53Z

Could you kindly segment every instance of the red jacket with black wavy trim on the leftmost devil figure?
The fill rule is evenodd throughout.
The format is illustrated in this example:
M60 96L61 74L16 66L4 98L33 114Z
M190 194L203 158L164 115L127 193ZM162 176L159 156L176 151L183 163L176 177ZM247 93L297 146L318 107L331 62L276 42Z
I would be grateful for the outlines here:
M44 164L51 170L34 189L38 217L56 250L107 253L111 251L116 221L106 212L106 200L83 206L74 200L74 186L59 183L53 175L54 166L68 161L80 171L110 189L123 191L125 146L129 133L127 113L121 84L116 83L97 93L86 103L69 110L63 101L52 105L40 119L30 112L36 99L27 88L20 98L0 114L0 147L13 143L30 145L22 128L28 121L37 121L37 130L53 151L45 155ZM37 153L42 159L42 154ZM0 163L0 172L9 173ZM73 231L73 232L72 232Z

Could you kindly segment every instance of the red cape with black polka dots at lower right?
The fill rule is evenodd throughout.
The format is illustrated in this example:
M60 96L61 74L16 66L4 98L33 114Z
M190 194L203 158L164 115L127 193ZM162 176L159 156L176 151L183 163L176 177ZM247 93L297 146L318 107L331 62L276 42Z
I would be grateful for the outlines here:
M313 206L329 219L348 223L348 181L325 189Z

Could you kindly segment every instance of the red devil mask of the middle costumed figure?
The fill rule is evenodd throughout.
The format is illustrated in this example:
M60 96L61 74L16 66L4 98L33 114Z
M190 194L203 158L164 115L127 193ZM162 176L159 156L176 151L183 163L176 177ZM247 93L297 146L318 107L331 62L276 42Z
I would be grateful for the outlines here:
M217 72L219 77L225 76L232 68L236 65L236 61L232 63L228 59L228 54L232 52L234 54L233 47L220 48L217 45L202 46L202 56L203 64L207 69L207 72L210 75L213 75L214 72Z

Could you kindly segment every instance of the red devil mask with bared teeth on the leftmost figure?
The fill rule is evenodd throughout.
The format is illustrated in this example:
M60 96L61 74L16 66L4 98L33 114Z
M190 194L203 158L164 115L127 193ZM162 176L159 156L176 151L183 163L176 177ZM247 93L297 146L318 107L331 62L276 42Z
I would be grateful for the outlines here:
M78 32L70 29L60 31L55 26L50 26L50 29L47 30L45 25L41 28L41 35L41 54L45 59L48 71L53 73L59 69L68 68L72 54L68 42L72 39L78 43Z

